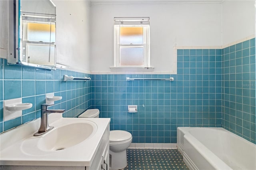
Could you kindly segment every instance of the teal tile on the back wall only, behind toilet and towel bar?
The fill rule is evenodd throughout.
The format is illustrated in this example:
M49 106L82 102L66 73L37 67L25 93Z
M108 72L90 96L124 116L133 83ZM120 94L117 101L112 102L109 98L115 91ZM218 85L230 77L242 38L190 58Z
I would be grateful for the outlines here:
M177 127L221 127L221 49L178 50L177 60L177 75L92 75L92 107L135 143L176 143ZM138 105L138 113L128 113L128 105Z

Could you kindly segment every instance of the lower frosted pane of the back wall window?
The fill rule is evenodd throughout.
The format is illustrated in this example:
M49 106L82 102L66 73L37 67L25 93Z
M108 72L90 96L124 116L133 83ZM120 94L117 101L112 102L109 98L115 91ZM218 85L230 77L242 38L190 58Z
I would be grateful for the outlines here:
M143 65L143 48L120 48L120 65Z

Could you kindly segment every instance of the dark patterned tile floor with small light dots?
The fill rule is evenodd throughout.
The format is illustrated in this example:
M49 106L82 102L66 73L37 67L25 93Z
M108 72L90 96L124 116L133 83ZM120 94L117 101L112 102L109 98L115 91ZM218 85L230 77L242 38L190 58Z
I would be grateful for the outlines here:
M189 170L178 149L127 149L124 170Z

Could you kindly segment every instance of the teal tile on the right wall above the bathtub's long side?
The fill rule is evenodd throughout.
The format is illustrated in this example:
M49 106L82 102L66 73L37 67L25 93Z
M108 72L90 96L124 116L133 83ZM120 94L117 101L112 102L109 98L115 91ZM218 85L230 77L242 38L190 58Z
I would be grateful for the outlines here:
M222 54L222 127L256 143L255 38Z

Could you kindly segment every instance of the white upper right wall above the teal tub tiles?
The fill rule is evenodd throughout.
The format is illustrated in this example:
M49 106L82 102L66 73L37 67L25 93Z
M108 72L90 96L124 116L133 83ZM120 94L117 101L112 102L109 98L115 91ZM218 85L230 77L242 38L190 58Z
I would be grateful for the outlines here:
M228 0L222 3L222 45L255 36L254 4L254 0Z

